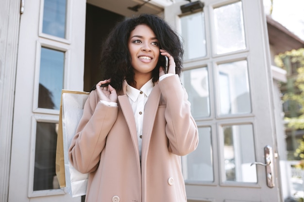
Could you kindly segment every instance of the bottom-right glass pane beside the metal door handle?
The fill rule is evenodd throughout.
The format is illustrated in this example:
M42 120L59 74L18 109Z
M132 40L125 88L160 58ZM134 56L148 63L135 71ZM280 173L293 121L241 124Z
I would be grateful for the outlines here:
M226 181L257 182L252 124L222 127Z

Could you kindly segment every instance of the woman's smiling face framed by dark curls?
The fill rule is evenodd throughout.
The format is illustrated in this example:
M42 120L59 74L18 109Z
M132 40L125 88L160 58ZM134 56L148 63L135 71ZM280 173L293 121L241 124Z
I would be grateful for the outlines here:
M160 54L158 40L151 28L144 24L137 25L131 31L128 48L136 82L139 76L151 79Z

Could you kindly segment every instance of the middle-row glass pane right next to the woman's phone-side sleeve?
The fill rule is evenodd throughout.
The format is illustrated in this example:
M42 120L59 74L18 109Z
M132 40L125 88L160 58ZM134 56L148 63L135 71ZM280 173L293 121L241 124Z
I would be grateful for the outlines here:
M183 72L183 84L191 103L191 114L194 118L210 116L209 82L207 67Z

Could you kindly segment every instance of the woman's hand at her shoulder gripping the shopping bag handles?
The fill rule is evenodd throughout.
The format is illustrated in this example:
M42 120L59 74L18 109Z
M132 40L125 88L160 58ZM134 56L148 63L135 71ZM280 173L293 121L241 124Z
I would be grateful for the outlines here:
M100 100L117 103L117 93L115 88L113 88L110 84L108 86L101 87L102 84L110 83L110 81L111 79L99 81L98 84L96 84L96 91Z

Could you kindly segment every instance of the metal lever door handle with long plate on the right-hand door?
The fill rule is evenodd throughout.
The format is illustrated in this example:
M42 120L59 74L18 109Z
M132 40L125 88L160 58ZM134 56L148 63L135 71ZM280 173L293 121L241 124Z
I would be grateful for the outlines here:
M274 179L272 177L272 174L273 174L272 148L269 145L267 145L266 147L264 147L264 153L265 153L265 162L266 163L253 162L250 166L252 166L252 165L265 166L266 167L267 186L272 188L272 187L274 187Z

